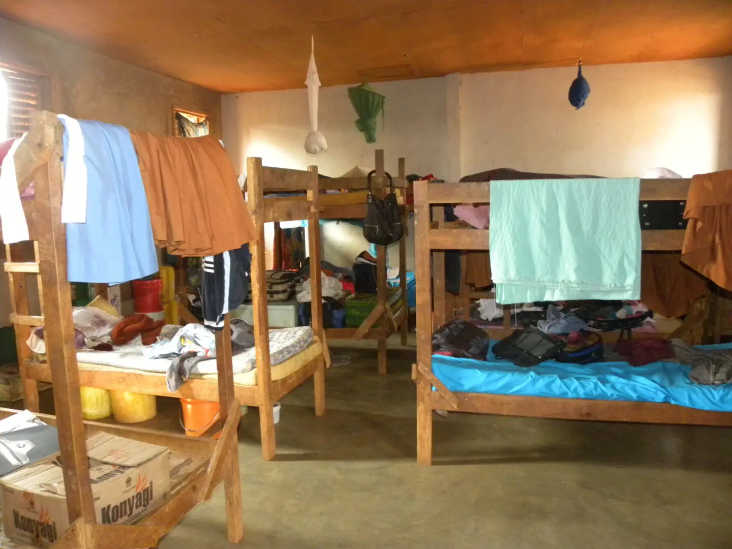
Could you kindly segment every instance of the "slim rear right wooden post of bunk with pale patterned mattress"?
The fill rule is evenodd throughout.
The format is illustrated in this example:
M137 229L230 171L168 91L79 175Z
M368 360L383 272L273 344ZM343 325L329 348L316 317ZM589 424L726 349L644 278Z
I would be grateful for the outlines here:
M310 189L307 190L307 201L310 202L310 217L307 220L307 234L310 239L310 319L313 324L313 335L321 340L325 347L325 332L323 330L323 305L321 288L321 259L320 259L320 211L318 206L318 166L307 166L313 176ZM315 386L315 415L325 414L325 359L318 357L318 369L313 374Z

